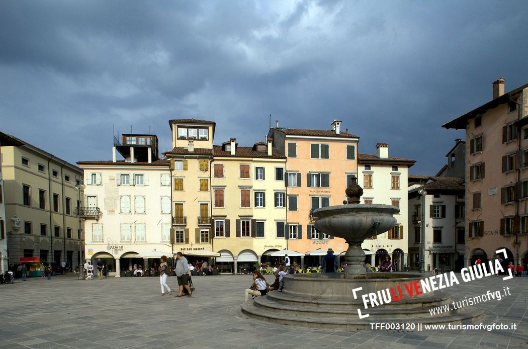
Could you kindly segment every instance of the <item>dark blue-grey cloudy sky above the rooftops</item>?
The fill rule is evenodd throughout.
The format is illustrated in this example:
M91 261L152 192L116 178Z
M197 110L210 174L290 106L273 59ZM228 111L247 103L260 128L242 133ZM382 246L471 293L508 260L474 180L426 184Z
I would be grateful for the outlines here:
M112 132L171 147L168 120L215 144L343 120L359 152L436 174L441 128L528 82L525 1L2 1L0 130L69 162L111 159Z

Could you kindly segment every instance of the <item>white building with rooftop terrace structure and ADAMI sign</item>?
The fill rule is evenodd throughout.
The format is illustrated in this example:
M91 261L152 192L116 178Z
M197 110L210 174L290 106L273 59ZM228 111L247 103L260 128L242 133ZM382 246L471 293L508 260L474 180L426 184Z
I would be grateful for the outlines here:
M81 216L86 219L86 258L98 258L119 277L133 265L144 270L158 259L138 254L165 252L172 257L170 162L158 159L155 135L114 139L112 161L79 162L84 170ZM125 158L116 160L116 150ZM109 269L110 270L110 269ZM115 271L120 271L116 273Z

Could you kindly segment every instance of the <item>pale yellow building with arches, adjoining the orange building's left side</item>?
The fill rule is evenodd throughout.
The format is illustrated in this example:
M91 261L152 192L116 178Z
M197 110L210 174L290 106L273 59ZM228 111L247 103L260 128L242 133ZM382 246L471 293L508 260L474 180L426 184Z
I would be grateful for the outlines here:
M286 157L271 139L239 147L235 138L214 146L212 236L221 272L242 272L266 252L286 248Z

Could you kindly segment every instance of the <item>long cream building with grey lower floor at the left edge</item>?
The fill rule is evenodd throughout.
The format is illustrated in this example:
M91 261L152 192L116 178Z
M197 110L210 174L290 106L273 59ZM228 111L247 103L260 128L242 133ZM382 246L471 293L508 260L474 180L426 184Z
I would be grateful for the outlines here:
M74 210L82 170L14 136L0 137L9 263L39 257L55 267L78 266L83 223Z

